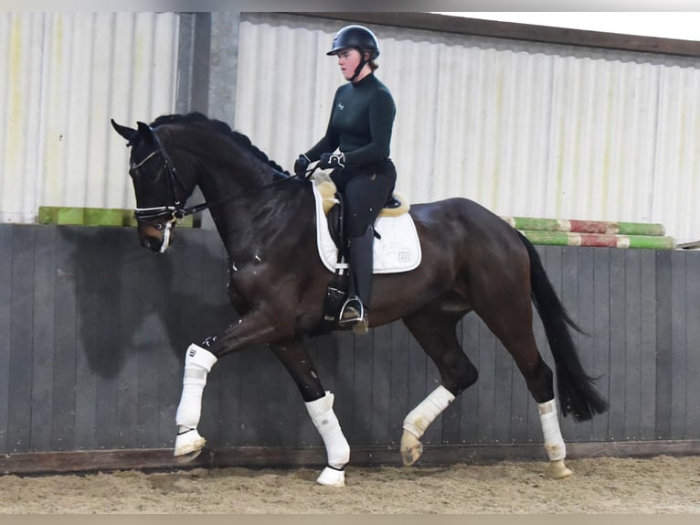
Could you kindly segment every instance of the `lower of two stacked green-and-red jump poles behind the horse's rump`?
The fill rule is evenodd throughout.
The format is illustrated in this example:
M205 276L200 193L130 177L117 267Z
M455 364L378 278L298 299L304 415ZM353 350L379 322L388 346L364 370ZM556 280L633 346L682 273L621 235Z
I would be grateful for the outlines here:
M657 235L610 235L544 230L520 231L533 244L595 246L600 248L645 248L649 250L673 250L675 247L673 237Z

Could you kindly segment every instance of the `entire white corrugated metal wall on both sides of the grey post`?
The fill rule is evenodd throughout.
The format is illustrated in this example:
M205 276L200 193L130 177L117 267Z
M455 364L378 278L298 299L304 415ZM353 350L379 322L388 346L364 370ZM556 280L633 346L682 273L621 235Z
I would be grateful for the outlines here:
M0 220L32 222L40 205L133 206L108 123L150 121L190 100L175 92L180 18L0 13ZM210 93L233 92L235 127L291 167L323 134L343 81L324 55L343 23L244 13L237 55L236 30L225 30L237 20L202 17L210 48L199 42L202 54L186 59L207 63L198 70L209 77L180 89L206 81ZM679 240L700 238L700 60L370 27L377 75L398 104L392 155L409 198L661 222ZM209 102L230 123L228 101Z

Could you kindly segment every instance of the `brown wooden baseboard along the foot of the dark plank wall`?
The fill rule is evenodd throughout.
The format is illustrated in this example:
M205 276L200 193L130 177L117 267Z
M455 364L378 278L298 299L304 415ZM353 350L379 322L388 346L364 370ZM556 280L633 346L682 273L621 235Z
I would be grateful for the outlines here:
M654 455L700 455L700 440L567 443L569 458L651 457ZM420 466L456 463L474 465L499 461L546 461L540 444L425 445ZM173 468L323 467L325 449L308 447L239 446L205 449L185 462L171 449L95 450L37 452L0 456L0 474L35 475L110 470L168 470ZM400 466L398 446L354 446L351 466Z

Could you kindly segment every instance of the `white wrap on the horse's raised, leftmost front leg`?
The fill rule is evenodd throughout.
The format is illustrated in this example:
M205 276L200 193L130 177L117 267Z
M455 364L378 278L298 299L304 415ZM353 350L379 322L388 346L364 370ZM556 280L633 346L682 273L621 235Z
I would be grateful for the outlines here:
M205 348L192 344L185 355L185 374L183 375L182 396L175 414L178 431L196 428L202 413L202 393L207 384L207 374L216 356Z

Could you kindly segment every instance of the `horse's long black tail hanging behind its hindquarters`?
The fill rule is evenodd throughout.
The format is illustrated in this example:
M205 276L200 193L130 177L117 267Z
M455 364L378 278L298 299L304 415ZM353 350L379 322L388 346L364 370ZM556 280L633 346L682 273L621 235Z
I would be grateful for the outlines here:
M557 297L545 268L532 242L517 232L530 256L530 284L532 300L545 327L549 348L552 350L557 370L557 389L563 415L571 413L576 421L586 421L594 413L608 410L608 402L593 387L595 379L590 377L578 359L569 327L582 330L568 316L564 305Z

